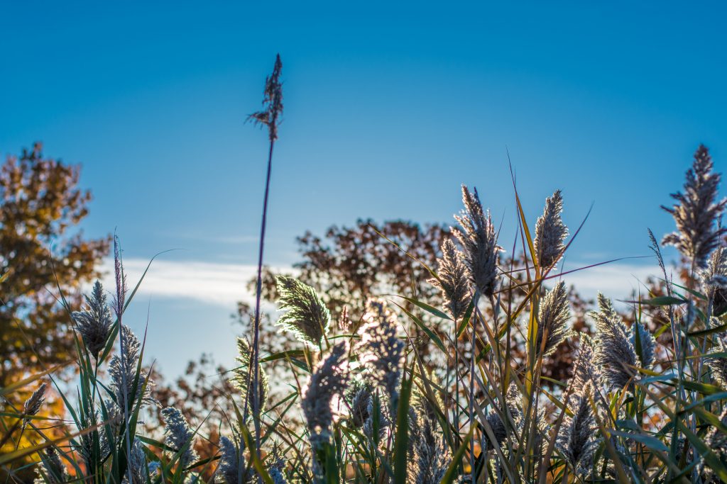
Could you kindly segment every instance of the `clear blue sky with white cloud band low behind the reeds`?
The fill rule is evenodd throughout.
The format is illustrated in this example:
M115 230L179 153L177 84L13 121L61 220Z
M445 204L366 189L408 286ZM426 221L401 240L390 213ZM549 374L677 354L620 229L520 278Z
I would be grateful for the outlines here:
M672 229L659 205L700 142L726 166L726 13L671 1L4 2L0 152L41 140L81 163L95 196L83 229L116 228L132 275L183 249L153 266L127 320L140 329L149 309L148 352L174 374L202 351L233 357L267 152L244 120L276 52L286 110L268 263L293 263L294 237L332 223L449 222L463 182L502 218L507 245L509 150L533 221L556 188L571 227L595 204L569 253L587 264L648 255L646 228ZM624 264L578 282L626 295L653 262Z

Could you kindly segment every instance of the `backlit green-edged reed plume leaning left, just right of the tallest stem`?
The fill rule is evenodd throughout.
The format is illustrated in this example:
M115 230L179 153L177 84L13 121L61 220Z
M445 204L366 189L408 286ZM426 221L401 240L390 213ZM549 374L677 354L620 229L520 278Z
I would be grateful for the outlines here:
M292 331L299 340L321 347L328 332L331 313L310 287L290 276L278 276L280 309L288 310L278 319L278 325Z

